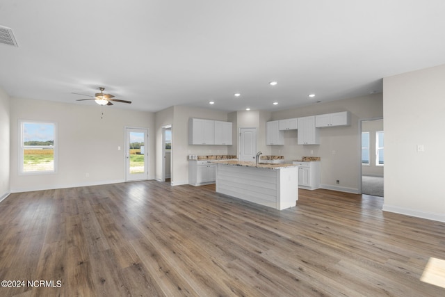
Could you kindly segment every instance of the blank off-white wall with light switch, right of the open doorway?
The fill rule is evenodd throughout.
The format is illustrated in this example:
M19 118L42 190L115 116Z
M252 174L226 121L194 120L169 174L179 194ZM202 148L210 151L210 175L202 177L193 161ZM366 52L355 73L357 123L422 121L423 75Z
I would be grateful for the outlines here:
M445 222L444 82L445 65L383 81L385 211Z

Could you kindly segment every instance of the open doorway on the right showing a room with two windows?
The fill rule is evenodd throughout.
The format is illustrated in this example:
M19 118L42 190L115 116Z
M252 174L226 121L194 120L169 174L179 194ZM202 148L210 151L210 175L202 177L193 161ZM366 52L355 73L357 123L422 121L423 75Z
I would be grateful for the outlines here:
M385 132L383 119L360 121L361 193L383 197L385 166Z

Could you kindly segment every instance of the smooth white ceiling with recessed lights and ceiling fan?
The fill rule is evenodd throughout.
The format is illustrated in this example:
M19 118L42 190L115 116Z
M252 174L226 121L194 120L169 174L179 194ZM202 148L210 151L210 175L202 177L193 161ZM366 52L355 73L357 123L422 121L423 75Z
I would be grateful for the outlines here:
M94 105L72 93L103 86L133 102L110 108L275 111L444 64L444 15L444 0L1 0L19 47L0 44L0 87Z

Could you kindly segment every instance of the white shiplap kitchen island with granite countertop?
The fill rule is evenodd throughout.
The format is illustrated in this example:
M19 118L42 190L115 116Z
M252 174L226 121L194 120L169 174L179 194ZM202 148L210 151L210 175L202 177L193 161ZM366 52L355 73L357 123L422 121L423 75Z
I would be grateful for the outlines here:
M274 209L294 207L298 200L298 166L215 161L216 192Z

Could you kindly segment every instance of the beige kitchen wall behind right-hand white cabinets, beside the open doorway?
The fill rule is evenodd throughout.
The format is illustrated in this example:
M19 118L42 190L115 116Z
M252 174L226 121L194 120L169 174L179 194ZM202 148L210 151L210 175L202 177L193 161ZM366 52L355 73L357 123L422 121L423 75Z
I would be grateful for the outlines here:
M272 117L273 120L282 120L337 111L350 111L349 127L321 128L320 145L297 145L298 131L284 131L284 145L274 145L272 154L284 156L286 162L300 159L302 156L320 156L323 188L358 193L362 163L359 119L382 118L381 93L275 111ZM337 184L337 179L340 184Z

